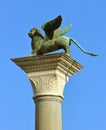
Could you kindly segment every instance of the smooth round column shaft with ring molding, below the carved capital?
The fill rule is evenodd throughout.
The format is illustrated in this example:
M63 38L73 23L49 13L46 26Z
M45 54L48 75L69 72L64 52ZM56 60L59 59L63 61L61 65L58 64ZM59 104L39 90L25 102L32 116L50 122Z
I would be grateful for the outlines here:
M61 97L37 97L35 130L62 130Z

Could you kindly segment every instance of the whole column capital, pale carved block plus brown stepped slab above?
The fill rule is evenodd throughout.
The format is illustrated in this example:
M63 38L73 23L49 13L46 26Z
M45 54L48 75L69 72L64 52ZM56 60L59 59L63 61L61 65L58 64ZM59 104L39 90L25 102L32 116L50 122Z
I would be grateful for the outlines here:
M63 97L68 77L83 68L65 53L11 60L27 73L32 84L34 97L44 95Z

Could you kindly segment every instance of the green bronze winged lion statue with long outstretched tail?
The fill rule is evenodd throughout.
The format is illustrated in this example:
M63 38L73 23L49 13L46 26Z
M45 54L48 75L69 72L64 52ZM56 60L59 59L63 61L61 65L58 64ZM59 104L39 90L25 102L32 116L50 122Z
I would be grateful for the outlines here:
M53 52L59 49L64 49L67 55L70 55L71 43L77 45L77 47L86 54L91 56L97 56L84 50L80 44L78 44L73 38L63 36L71 29L71 24L68 26L57 29L62 23L61 15L57 16L51 21L48 21L42 25L42 29L45 32L45 36L42 35L39 29L32 28L28 33L29 37L32 39L31 47L32 52L29 56L43 55L45 53Z

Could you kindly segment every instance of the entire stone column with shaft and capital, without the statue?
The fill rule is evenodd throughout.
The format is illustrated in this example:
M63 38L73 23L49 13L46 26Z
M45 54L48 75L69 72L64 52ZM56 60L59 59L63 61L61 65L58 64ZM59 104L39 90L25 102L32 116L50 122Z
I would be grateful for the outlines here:
M68 78L82 68L65 53L12 59L32 84L35 130L62 130L61 102Z

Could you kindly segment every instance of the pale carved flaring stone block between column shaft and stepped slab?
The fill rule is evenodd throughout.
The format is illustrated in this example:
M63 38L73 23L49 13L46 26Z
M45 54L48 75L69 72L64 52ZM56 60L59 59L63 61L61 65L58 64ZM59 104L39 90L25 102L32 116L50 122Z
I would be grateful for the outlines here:
M59 71L29 73L34 96L55 95L63 97L66 77Z

